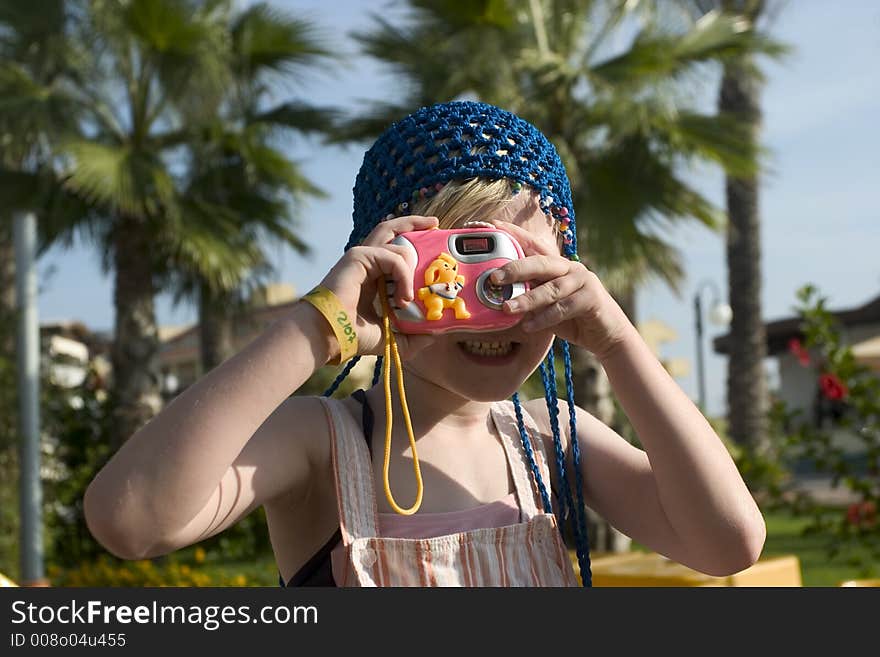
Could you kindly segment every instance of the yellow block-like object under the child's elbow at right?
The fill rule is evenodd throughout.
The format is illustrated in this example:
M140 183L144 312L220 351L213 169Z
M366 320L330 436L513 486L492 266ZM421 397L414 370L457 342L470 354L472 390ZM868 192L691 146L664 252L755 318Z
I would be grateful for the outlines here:
M726 577L706 575L654 552L593 556L591 570L593 586L802 586L800 562L793 555L761 559Z

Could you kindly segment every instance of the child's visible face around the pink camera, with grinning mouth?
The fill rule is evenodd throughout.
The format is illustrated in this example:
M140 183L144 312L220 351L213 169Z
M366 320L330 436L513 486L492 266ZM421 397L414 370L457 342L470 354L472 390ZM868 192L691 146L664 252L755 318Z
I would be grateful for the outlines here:
M553 221L537 197L521 193L485 219L509 221L539 239L557 243ZM526 253L526 256L531 255ZM474 401L507 399L547 355L551 330L525 333L519 325L492 333L446 333L407 362L407 369Z

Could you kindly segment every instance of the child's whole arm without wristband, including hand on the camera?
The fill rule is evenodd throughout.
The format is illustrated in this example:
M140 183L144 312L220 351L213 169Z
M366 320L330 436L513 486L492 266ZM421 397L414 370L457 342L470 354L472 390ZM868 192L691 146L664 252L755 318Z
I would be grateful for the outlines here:
M764 520L702 413L593 272L521 228L497 224L534 254L502 268L506 282L536 283L508 311L526 314L526 331L552 331L595 353L645 448L577 409L589 506L632 538L703 572L750 566L764 545Z

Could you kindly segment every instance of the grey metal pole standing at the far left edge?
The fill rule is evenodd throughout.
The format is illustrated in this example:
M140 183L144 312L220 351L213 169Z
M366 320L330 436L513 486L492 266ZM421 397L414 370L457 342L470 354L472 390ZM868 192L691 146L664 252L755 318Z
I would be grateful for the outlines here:
M15 289L18 302L18 366L21 449L21 585L44 586L43 493L40 486L40 326L37 321L37 220L32 212L15 214Z

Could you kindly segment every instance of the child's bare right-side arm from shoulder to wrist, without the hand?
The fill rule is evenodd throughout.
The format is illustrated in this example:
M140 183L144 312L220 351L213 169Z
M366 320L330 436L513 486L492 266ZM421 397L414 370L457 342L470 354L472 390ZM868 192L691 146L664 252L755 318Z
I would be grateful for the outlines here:
M711 575L739 572L764 547L761 511L715 431L629 326L601 362L645 451L577 409L591 506L680 563Z

